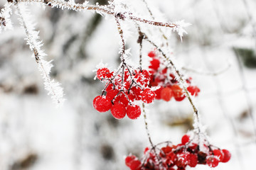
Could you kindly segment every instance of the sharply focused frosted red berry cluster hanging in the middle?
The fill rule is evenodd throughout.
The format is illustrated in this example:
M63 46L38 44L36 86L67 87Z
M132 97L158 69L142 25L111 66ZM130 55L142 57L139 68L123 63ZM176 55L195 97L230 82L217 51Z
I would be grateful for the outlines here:
M137 119L141 108L134 101L152 103L156 94L148 87L150 75L145 69L132 70L122 65L122 71L110 72L106 67L97 69L96 77L106 82L102 96L93 100L94 108L99 112L111 111L114 118L122 119L125 115ZM105 95L104 95L105 94Z

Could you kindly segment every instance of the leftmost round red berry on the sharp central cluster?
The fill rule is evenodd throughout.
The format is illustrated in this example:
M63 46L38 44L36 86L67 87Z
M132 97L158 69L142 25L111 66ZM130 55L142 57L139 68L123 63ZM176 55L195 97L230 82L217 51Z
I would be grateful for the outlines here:
M112 103L110 98L106 96L97 96L93 100L93 107L98 112L106 112L110 110L110 108L112 107Z

